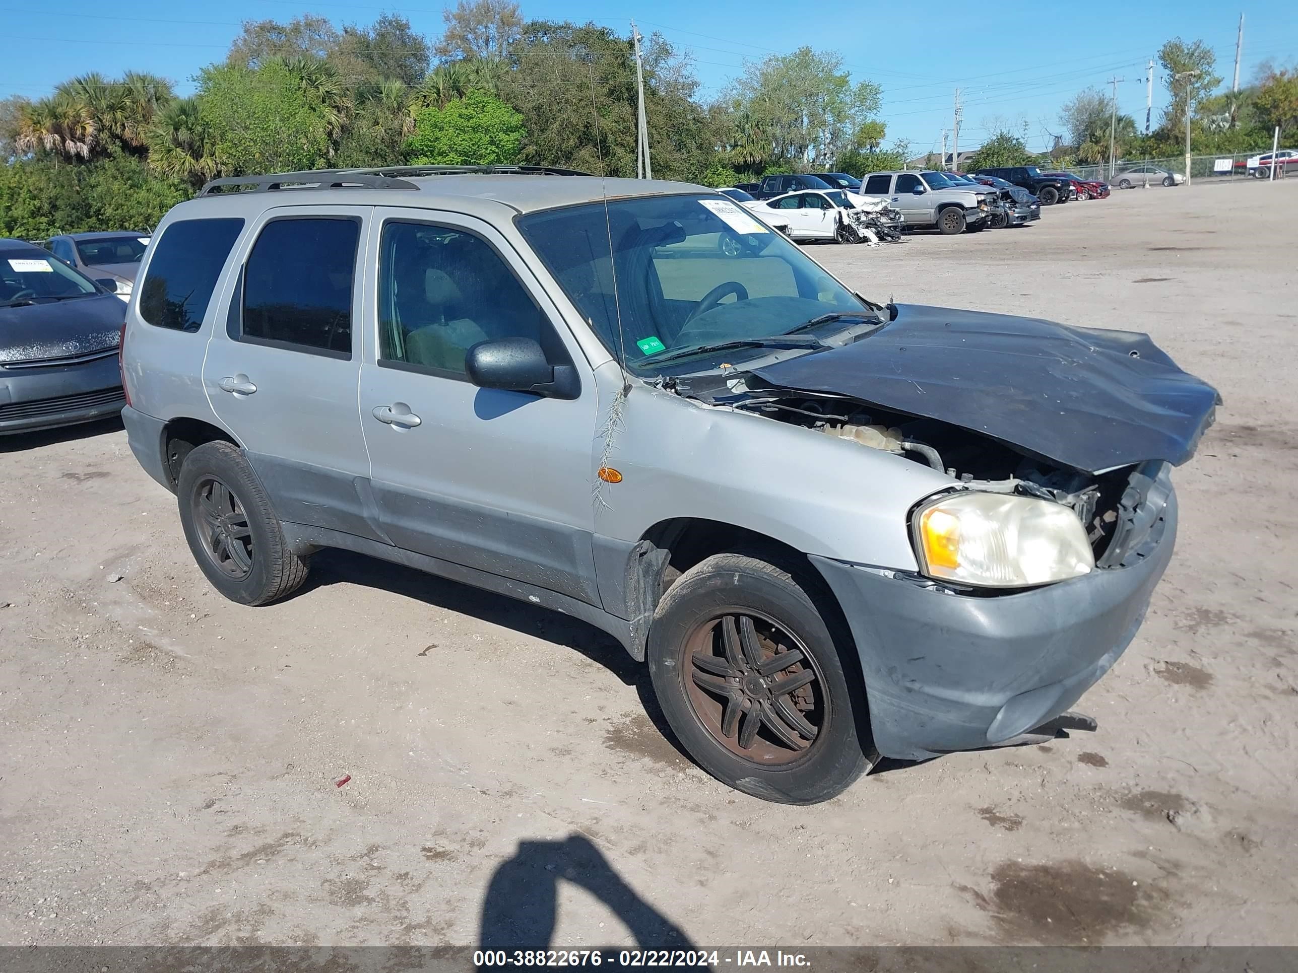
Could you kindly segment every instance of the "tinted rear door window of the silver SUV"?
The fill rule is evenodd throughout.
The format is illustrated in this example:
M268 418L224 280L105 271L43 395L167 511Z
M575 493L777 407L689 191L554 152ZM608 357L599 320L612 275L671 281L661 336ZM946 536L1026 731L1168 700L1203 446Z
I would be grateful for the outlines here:
M275 219L244 269L240 339L352 354L352 283L361 222Z

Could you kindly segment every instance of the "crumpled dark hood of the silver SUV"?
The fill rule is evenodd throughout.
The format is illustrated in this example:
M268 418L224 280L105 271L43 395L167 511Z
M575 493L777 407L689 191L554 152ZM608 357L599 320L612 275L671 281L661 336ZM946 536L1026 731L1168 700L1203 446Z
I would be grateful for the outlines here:
M980 432L1084 472L1184 463L1220 397L1147 335L898 305L854 344L753 371Z

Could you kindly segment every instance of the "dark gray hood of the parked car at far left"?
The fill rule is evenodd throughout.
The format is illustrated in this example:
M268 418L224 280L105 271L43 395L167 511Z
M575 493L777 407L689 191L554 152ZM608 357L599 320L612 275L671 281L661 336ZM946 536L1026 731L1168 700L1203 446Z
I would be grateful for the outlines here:
M113 294L0 307L0 365L117 348L126 305Z

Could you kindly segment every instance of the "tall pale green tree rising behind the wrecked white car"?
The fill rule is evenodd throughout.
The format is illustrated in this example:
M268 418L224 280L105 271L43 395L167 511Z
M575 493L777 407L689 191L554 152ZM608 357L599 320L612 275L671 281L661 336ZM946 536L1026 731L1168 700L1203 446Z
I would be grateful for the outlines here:
M853 84L841 54L803 47L748 65L724 101L752 118L771 160L819 167L857 144L858 134L874 134L868 123L881 91L871 82Z

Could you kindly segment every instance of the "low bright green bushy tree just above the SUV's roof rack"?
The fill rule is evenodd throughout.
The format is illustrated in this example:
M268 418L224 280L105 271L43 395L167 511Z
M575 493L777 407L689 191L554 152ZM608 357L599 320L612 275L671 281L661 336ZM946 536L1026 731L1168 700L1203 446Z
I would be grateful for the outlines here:
M509 165L523 144L523 117L484 91L471 91L445 108L426 108L410 138L415 165Z

